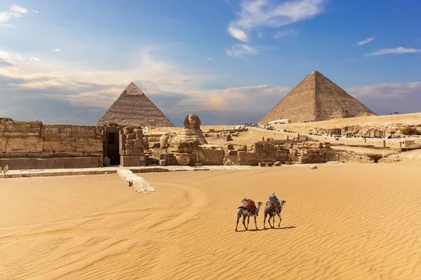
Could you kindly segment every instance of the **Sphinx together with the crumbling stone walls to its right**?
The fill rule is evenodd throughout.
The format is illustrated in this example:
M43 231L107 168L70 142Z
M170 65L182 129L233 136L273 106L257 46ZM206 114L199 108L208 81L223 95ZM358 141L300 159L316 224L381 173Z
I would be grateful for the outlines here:
M317 141L262 141L250 145L209 145L200 129L200 119L189 114L185 130L166 132L152 157L160 165L258 165L261 162L321 163L335 160L329 143ZM235 132L238 133L238 132ZM213 137L215 132L206 133Z

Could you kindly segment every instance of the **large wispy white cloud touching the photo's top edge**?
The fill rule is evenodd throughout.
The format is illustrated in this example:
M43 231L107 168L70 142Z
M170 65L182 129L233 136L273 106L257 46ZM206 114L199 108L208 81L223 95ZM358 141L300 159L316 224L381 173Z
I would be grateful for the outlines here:
M229 24L234 38L245 41L256 27L281 27L308 20L323 11L326 0L295 0L279 4L269 0L243 0L238 19ZM241 36L239 36L241 34Z

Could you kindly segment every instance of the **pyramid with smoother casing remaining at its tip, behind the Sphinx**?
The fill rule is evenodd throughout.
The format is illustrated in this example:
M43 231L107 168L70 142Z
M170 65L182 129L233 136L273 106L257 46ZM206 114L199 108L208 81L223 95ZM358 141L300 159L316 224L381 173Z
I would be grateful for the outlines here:
M173 123L153 104L145 93L130 83L96 125L138 125L142 127L173 127Z

